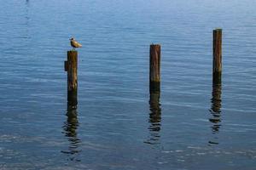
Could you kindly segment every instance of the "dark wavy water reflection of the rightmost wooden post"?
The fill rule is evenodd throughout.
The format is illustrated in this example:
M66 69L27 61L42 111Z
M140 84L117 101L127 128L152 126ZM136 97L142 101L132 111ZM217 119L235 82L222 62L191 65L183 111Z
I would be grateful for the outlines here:
M210 109L211 118L209 121L212 122L212 133L216 134L219 132L219 127L221 126L221 84L213 83L212 84L212 107ZM214 140L218 140L215 137ZM218 141L209 141L209 144L218 144Z

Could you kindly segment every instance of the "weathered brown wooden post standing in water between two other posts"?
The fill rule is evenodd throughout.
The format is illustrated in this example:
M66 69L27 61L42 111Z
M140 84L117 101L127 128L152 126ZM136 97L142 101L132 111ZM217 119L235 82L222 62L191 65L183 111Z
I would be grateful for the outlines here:
M149 91L160 92L160 45L151 44L149 52Z

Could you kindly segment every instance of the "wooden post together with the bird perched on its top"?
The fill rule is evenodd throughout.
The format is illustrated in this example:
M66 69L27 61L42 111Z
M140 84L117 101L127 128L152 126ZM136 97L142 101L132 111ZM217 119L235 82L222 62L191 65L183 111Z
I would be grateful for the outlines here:
M82 45L74 38L70 39L72 50L67 51L67 61L65 61L65 71L67 71L67 101L77 105L78 99L78 51Z

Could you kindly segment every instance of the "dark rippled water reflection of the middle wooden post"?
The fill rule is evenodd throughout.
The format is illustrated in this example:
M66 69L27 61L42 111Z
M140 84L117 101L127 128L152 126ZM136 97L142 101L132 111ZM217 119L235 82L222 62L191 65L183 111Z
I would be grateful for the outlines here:
M160 108L160 91L150 92L149 99L149 139L145 142L147 144L160 144L160 122L161 122L161 108Z

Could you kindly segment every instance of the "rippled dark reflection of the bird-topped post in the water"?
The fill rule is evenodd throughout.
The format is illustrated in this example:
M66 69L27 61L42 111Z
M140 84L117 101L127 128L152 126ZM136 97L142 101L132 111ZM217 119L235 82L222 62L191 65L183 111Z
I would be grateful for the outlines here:
M63 130L65 136L69 141L68 150L61 150L62 153L69 155L71 161L80 161L78 156L79 144L81 143L78 138L77 129L79 127L78 112L77 112L77 101L68 100L67 102L67 122L64 123Z

